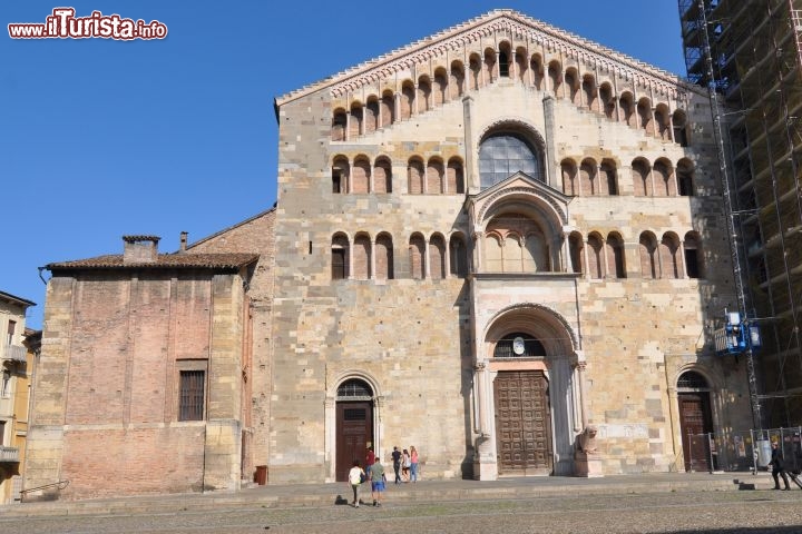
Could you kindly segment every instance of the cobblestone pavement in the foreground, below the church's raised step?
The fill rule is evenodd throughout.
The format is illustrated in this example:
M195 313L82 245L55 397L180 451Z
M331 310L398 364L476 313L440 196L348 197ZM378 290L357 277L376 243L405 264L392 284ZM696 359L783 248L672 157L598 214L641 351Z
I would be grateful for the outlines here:
M802 492L671 492L7 517L3 534L95 533L802 533Z

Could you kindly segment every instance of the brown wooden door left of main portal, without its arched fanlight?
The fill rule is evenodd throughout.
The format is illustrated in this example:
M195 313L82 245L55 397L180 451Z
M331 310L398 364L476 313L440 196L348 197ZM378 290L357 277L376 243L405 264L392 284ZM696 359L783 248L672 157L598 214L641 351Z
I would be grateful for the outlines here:
M373 444L373 406L370 402L336 405L336 479L348 481L354 459L364 467L368 443Z

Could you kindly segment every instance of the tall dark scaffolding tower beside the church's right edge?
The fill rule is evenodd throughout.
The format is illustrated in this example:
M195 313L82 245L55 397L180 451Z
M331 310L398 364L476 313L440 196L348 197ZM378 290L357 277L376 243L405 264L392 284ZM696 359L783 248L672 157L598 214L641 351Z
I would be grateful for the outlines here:
M728 229L739 241L732 247L739 306L747 317L772 318L762 325L759 369L765 423L798 425L802 0L678 0L678 7L688 79L708 88L714 135L730 141L730 152L720 150L718 157ZM716 140L723 149L724 139ZM756 407L760 419L755 376L750 373L753 414Z

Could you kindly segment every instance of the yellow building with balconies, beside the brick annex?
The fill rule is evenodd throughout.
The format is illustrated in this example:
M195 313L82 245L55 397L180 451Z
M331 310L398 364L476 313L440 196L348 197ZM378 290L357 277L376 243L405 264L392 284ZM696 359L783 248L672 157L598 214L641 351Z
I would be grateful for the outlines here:
M26 327L26 312L36 306L0 291L0 504L19 501L25 469L30 384L41 333Z

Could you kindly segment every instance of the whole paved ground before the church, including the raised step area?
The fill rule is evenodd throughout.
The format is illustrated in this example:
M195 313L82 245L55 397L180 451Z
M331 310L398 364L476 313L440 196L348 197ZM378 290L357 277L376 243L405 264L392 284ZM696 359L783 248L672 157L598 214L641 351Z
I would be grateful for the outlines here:
M381 507L348 504L345 484L258 486L0 507L3 534L61 533L799 533L802 492L765 473L424 481Z

